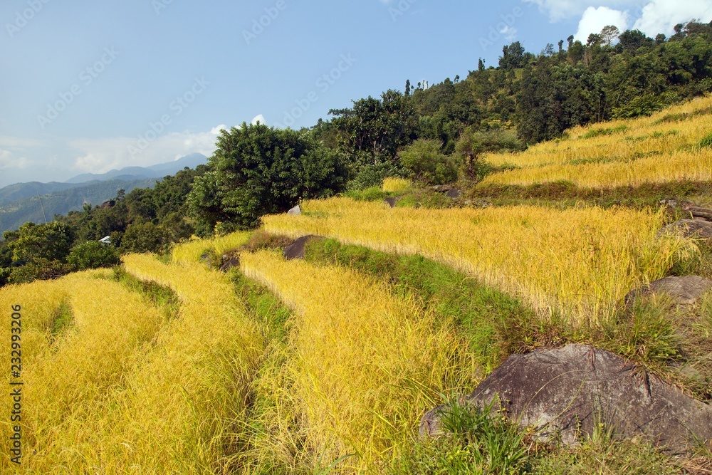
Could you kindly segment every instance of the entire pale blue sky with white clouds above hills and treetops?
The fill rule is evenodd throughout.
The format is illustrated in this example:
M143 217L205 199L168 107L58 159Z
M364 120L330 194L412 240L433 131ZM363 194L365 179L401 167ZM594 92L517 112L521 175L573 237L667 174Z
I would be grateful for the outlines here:
M4 0L0 187L211 155L221 129L309 127L352 100L712 0Z

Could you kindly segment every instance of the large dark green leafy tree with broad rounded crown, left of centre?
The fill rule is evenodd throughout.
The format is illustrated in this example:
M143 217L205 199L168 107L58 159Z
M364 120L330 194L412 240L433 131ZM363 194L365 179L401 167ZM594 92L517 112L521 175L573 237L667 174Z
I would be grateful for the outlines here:
M220 221L256 226L264 214L285 212L300 199L328 196L345 182L336 153L307 133L243 124L223 130L216 145L211 172L195 180L188 198L203 234Z

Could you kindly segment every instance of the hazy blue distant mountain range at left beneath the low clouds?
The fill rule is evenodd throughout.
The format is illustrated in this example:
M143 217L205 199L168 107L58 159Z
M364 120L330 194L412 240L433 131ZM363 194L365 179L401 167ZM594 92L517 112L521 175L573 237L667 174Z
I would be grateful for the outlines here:
M67 214L116 197L120 189L152 188L156 182L185 167L204 165L207 157L199 153L151 167L126 167L103 174L80 174L67 182L17 183L0 189L0 234L18 229L27 221L52 221L55 214ZM44 208L44 209L43 209Z

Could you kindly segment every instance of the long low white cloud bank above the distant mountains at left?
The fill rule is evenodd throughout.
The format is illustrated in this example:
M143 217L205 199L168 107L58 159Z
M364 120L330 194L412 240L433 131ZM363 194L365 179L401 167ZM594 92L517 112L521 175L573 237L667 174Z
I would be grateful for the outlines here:
M75 155L75 169L105 173L110 169L156 165L194 152L209 157L215 151L215 140L221 128L226 127L219 125L209 132L173 132L143 143L136 138L113 137L73 140L69 145L80 152L78 157Z

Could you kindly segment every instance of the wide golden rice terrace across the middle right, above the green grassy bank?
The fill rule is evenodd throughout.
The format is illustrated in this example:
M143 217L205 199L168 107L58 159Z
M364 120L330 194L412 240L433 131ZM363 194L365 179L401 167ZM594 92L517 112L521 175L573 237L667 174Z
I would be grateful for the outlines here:
M683 243L656 239L660 213L632 209L389 209L348 198L265 216L267 231L422 254L579 323L609 315L631 288L664 276Z

